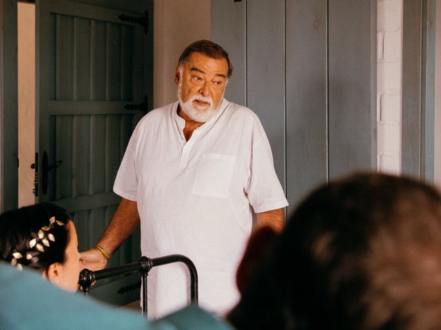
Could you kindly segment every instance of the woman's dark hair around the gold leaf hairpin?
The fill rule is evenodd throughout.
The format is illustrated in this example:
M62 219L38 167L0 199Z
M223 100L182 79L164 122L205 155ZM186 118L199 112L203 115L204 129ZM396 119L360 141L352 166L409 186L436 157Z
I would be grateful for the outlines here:
M64 225L50 226L50 218L55 217ZM65 263L65 250L69 243L69 232L66 224L70 215L64 208L53 203L37 203L17 210L0 214L0 260L11 262L12 253L20 252L23 258L20 264L35 270L47 270L52 263ZM41 252L30 248L30 241L36 239L42 228L50 227L45 234L52 234L54 241L44 246ZM26 259L24 254L31 252L32 259Z

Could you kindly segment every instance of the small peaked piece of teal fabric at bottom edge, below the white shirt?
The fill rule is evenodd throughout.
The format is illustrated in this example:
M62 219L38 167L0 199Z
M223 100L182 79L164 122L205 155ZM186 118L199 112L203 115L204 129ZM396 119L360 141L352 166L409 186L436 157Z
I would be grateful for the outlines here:
M163 330L233 330L225 321L192 305L152 322L153 329ZM157 328L156 328L157 327Z

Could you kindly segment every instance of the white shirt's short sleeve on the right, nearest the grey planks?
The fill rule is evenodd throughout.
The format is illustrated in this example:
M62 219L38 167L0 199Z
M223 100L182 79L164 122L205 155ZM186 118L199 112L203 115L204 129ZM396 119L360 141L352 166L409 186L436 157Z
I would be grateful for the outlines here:
M271 146L262 125L258 122L252 142L247 192L254 212L266 212L288 205L280 181L274 170Z

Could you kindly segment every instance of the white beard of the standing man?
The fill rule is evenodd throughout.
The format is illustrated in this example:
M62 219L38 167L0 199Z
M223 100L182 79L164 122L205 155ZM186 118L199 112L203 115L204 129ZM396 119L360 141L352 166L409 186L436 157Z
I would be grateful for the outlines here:
M213 105L214 103L213 99L196 94L191 98L189 98L187 102L183 102L181 77L182 77L182 72L178 84L178 101L179 101L179 105L181 106L181 110L184 111L184 113L188 115L189 118L192 118L192 120L194 120L195 122L207 122L214 116L214 113L216 113L216 109L214 109L214 105ZM194 106L193 102L196 100L209 103L209 107Z

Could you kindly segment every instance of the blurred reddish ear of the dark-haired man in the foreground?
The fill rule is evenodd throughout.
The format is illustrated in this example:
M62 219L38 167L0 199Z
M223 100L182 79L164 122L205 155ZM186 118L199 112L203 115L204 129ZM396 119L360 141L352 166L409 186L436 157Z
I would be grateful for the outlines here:
M265 255L265 252L271 248L277 236L278 233L274 229L269 226L263 226L254 231L249 237L245 254L242 261L240 261L236 273L236 284L240 294L243 293L258 263Z

